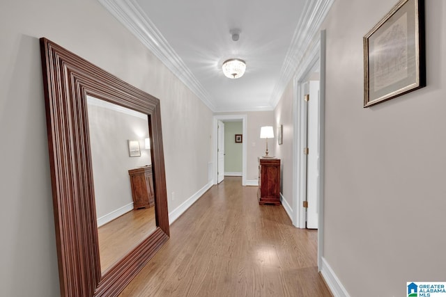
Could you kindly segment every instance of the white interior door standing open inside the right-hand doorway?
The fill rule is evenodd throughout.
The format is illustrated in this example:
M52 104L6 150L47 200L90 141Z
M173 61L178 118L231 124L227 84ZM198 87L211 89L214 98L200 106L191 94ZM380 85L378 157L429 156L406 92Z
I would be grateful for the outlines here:
M309 81L307 102L307 228L318 228L319 206L319 81Z

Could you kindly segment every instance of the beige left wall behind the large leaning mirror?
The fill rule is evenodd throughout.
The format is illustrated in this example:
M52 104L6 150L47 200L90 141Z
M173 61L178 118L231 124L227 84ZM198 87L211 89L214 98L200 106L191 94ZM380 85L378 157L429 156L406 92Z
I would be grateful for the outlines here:
M59 296L38 38L161 100L169 211L208 182L212 113L95 0L0 4L2 296Z

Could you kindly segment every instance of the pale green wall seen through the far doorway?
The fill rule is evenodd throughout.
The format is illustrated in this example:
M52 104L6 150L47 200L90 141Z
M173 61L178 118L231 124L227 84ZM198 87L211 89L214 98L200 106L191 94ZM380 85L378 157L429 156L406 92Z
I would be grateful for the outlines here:
M224 172L241 175L243 150L242 143L236 143L236 134L243 134L242 122L224 122Z

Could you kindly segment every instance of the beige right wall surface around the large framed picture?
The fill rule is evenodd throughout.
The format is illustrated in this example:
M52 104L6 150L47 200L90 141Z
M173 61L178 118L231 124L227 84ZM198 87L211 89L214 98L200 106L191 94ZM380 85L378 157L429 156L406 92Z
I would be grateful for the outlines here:
M362 37L394 2L337 0L323 24L323 257L350 296L446 275L445 1L425 1L427 87L362 108Z

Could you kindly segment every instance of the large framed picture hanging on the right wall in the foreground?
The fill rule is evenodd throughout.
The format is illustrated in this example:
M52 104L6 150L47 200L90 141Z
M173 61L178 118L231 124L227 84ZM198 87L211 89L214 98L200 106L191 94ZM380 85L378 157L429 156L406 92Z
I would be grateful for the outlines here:
M364 107L424 86L424 0L401 0L364 36Z

